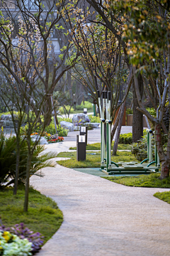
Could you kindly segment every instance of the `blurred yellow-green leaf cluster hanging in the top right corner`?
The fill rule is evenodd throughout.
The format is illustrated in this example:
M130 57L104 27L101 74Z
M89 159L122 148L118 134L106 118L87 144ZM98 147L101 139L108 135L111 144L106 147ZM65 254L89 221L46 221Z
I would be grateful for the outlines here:
M162 6L164 2L162 1ZM147 0L113 1L112 8L113 11L117 9L120 16L125 16L123 36L128 43L126 50L130 62L138 65L144 59L147 62L155 61L169 40L169 18L164 18L163 14L161 16L159 4ZM140 71L146 72L145 70L146 65L143 65ZM152 73L158 75L157 68Z

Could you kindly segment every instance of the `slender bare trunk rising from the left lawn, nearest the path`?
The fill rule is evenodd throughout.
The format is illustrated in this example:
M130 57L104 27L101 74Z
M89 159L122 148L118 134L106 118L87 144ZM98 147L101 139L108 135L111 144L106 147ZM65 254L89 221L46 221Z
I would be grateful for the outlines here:
M23 206L23 211L28 211L28 195L29 195L29 186L30 186L30 164L32 156L28 154L27 166L26 166L26 190L25 190L25 201Z

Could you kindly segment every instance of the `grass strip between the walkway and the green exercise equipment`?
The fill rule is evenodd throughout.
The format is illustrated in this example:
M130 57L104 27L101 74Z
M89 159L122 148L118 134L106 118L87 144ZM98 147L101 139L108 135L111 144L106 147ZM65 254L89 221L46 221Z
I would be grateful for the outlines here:
M164 180L159 180L160 174L149 174L140 176L108 176L103 177L108 181L120 183L125 186L137 186L147 188L170 188L170 177Z

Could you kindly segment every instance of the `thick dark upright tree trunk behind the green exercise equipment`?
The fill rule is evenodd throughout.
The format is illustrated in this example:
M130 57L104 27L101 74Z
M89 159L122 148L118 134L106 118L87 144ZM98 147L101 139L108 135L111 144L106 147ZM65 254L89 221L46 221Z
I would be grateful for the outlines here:
M142 94L143 94L142 76L138 75L137 80L139 83L140 95L142 98ZM132 92L133 92L132 142L138 142L143 136L143 114L139 110L137 110L137 107L139 107L139 105L137 102L134 82L132 83Z

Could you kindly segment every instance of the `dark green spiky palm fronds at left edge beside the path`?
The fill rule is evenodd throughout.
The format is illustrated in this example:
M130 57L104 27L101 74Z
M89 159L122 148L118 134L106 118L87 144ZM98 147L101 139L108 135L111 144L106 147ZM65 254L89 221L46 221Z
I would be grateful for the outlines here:
M34 146L33 142L31 142L31 147ZM33 158L31 160L30 166L30 176L33 174L38 174L40 169L50 166L54 167L55 164L52 164L53 157L56 156L54 153L46 153L40 154L44 151L45 147L42 145L38 145L35 148L33 153ZM20 161L19 161L19 181L26 181L26 164L27 164L27 156L28 156L28 146L26 141L21 144L21 153L20 153ZM48 161L47 161L48 160ZM14 183L14 178L16 174L16 137L9 137L5 139L4 134L1 134L0 137L0 186L4 186L4 183Z

